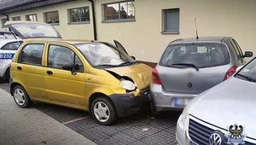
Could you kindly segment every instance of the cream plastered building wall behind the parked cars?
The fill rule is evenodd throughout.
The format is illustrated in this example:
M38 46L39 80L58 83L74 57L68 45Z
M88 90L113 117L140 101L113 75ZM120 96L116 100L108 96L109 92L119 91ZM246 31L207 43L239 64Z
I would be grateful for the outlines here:
M199 37L231 36L241 49L256 54L256 1L236 0L136 0L136 20L129 22L104 23L102 3L119 0L96 1L97 38L113 43L118 40L130 55L137 60L158 62L166 45L176 38L195 37L195 18ZM44 21L43 13L59 10L60 26L55 26L63 38L93 39L92 13L90 24L68 25L67 9L90 6L84 0L61 3L40 9L30 9L9 14L21 16L38 14L38 21ZM162 34L162 9L180 9L179 34Z

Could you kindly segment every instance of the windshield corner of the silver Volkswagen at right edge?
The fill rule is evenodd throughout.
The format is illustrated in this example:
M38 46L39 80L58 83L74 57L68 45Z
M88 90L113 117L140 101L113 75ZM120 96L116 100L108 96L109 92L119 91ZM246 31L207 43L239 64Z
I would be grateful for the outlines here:
M246 67L243 67L239 73L236 73L236 77L246 78L248 81L256 80L256 59L247 64Z

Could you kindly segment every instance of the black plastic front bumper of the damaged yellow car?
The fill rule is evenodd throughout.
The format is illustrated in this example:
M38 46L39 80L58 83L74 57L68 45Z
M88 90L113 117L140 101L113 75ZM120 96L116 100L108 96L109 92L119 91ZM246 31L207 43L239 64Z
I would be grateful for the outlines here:
M113 94L109 97L113 101L119 117L124 117L137 113L143 107L143 103L150 100L149 95L149 89L146 89L141 90L140 95L133 98L130 97L130 94Z

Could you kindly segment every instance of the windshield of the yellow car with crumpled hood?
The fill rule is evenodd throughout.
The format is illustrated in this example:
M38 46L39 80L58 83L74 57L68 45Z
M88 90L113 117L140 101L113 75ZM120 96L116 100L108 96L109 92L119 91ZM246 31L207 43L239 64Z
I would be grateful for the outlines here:
M115 49L111 44L105 43L84 43L74 44L85 56L93 67L113 67L119 66L123 63L129 65L126 62L135 62L129 55L120 52Z

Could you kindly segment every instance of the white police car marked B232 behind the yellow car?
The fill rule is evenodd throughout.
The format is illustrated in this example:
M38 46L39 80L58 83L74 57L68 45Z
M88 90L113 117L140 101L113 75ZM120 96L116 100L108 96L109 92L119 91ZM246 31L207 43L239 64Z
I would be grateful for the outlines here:
M4 81L9 80L9 65L20 44L20 38L0 38L0 78Z

